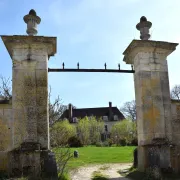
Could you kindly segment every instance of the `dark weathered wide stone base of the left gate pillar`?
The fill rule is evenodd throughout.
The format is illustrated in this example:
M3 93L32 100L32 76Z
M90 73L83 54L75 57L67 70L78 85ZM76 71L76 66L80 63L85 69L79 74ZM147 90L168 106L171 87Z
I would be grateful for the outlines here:
M30 150L30 147L35 146L28 143L22 149L9 152L8 175L13 178L24 176L29 180L57 180L54 154L49 150Z

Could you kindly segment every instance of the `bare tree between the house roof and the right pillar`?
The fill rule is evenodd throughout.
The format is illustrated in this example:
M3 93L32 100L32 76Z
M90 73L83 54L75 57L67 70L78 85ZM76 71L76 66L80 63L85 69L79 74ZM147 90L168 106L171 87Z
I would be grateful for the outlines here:
M136 120L136 101L128 101L123 104L120 111L125 115L126 118L132 121Z

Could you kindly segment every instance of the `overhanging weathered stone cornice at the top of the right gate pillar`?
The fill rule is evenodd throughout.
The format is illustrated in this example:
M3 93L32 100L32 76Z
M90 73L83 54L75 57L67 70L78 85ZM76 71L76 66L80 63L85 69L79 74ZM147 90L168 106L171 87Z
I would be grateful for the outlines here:
M126 50L123 52L123 61L126 64L133 64L133 58L138 52L166 52L169 55L176 49L178 43L169 43L164 41L150 41L150 40L133 40Z

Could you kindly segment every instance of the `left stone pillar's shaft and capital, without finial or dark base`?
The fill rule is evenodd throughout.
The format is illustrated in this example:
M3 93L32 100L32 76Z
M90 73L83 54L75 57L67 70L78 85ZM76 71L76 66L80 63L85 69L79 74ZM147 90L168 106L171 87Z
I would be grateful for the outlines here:
M48 60L56 38L2 36L13 61L13 149L24 143L49 149Z

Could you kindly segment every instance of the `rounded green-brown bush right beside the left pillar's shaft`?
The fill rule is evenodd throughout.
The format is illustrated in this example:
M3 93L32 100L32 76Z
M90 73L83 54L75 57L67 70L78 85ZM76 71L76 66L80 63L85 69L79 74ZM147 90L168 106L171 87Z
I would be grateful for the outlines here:
M67 145L68 139L76 135L76 128L68 120L55 123L50 128L50 137L52 146Z

